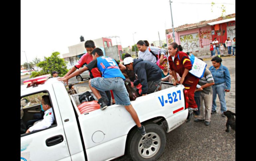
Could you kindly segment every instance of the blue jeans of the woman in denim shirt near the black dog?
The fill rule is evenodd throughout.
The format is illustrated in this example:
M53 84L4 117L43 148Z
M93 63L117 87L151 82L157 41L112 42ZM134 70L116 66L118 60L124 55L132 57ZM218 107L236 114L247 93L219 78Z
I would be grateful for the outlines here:
M211 111L216 111L216 97L218 94L220 102L220 112L227 111L226 100L225 100L225 83L212 85L212 109Z

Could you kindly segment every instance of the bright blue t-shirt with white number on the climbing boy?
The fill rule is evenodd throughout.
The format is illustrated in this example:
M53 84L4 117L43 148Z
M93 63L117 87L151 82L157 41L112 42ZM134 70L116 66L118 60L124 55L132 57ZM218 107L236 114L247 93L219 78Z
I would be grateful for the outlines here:
M97 67L102 72L103 78L121 77L125 80L124 75L118 67L117 62L108 56L97 57L96 60L91 61L86 65L88 69Z

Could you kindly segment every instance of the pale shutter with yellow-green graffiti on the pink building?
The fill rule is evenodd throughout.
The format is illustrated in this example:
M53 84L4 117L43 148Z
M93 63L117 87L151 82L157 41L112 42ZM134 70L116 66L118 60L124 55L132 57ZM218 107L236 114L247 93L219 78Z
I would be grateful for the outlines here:
M181 46L183 47L184 52L192 52L192 51L200 50L198 33L180 36L180 40L181 40Z

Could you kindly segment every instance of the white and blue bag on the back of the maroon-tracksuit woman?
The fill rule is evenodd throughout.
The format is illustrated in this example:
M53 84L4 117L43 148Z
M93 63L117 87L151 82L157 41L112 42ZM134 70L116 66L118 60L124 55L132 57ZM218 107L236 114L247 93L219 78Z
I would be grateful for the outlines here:
M178 53L178 58L180 60L179 53ZM191 54L189 58L192 64L192 69L189 71L190 74L192 74L196 78L199 78L199 79L202 78L206 68L206 63L198 59L197 57L195 57L193 54Z

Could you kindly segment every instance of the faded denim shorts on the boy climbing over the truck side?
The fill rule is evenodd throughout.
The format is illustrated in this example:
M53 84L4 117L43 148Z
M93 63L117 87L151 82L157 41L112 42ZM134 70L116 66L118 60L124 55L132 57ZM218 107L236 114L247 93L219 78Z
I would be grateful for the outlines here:
M98 91L113 91L116 105L128 106L131 104L129 94L125 88L123 78L102 78L91 79L91 86Z

